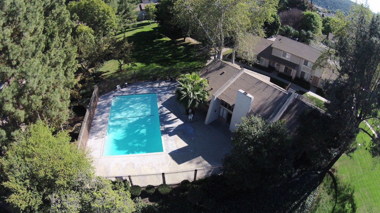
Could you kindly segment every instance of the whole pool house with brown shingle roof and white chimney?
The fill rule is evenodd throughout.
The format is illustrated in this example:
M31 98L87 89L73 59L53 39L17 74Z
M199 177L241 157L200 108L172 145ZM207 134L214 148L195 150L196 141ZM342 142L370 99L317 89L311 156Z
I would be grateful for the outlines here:
M260 116L268 122L285 119L294 133L297 116L312 106L304 96L271 83L269 77L231 63L214 60L200 72L209 81L212 95L205 105L205 124L219 119L233 131L242 117Z

